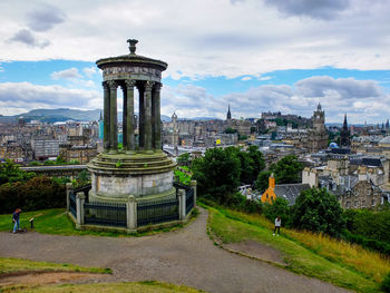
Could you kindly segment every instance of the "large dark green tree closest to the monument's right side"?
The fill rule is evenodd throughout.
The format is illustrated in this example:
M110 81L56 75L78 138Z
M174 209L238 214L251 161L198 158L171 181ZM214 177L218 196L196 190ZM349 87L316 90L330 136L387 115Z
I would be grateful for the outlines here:
M205 156L193 162L193 178L199 196L224 204L240 185L241 163L233 150L209 148Z

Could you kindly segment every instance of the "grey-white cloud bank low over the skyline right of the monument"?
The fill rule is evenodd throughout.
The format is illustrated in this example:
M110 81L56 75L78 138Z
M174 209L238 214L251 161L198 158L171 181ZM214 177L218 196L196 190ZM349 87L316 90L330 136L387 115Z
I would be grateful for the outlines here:
M222 97L214 97L205 88L192 85L164 87L162 113L170 116L176 111L181 118L225 118L230 104L235 118L260 118L262 111L269 110L311 117L319 101L328 123L342 123L344 113L349 123L361 124L362 117L377 123L383 119L381 117L389 117L390 113L390 95L376 81L328 76L306 78L294 87L264 85Z

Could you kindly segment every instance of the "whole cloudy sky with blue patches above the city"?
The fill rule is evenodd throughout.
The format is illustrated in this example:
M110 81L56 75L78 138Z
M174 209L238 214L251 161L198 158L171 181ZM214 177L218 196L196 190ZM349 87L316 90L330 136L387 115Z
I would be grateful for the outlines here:
M2 0L0 114L103 107L99 58L168 62L162 113L390 118L388 0ZM119 102L120 104L120 102Z

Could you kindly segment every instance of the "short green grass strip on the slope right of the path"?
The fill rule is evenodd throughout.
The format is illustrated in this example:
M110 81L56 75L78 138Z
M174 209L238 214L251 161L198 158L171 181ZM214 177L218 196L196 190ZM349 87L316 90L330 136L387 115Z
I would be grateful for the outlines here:
M251 240L276 248L284 255L286 267L295 273L313 276L358 292L379 292L378 283L370 275L352 268L342 260L335 262L305 245L283 235L272 235L272 224L259 215L208 208L209 227L223 243ZM283 229L282 229L283 231Z

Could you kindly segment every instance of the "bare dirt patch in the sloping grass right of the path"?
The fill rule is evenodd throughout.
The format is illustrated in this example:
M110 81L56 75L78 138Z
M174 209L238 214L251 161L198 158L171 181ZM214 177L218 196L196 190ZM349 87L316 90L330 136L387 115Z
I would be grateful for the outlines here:
M286 263L283 261L283 254L280 251L255 241L223 244L223 246L227 250L244 253L248 256L256 257L265 262L286 265Z

